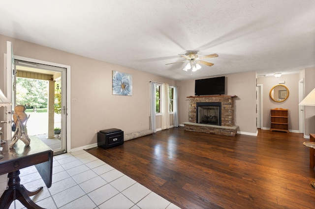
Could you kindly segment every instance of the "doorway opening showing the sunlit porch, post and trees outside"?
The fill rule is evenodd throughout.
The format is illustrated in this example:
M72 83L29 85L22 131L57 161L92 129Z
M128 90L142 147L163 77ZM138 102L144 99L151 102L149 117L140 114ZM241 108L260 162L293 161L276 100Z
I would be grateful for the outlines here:
M65 68L14 60L16 68L15 104L24 105L30 115L28 135L47 144L54 155L66 152L65 108L62 104ZM56 132L58 130L60 132Z

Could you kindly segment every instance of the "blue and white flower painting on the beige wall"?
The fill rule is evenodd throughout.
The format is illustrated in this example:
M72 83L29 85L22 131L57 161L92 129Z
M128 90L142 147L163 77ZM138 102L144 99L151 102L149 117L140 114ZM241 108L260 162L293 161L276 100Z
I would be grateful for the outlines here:
M113 71L113 94L132 96L132 75Z

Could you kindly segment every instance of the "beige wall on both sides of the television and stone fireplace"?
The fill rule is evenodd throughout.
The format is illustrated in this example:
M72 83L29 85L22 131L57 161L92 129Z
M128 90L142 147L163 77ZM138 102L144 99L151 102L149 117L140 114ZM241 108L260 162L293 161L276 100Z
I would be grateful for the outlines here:
M194 96L194 79L177 81L179 123L188 122L188 96ZM225 94L234 98L234 122L239 133L256 134L256 73L225 75Z

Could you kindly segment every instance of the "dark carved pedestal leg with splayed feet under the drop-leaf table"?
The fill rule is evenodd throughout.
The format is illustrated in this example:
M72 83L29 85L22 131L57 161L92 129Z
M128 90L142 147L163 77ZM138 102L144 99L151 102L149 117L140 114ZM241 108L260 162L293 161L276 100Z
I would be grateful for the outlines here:
M19 174L19 170L8 173L8 188L0 198L0 209L8 209L14 200L19 200L27 208L43 209L37 206L30 198L30 196L37 194L43 187L39 187L35 191L28 191L20 184Z

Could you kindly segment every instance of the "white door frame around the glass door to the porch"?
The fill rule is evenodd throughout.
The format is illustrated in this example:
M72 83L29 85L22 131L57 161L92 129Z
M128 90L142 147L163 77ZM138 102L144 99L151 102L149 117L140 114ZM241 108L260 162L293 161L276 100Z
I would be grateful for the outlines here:
M70 111L70 98L71 98L71 68L69 65L64 65L64 64L59 64L59 63L54 63L54 62L47 62L39 59L32 59L28 57L23 57L23 56L17 56L14 55L14 59L18 59L21 61L25 62L33 62L33 63L39 63L43 65L51 65L51 66L56 66L56 67L61 67L66 69L66 151L70 152L71 150L71 111Z

